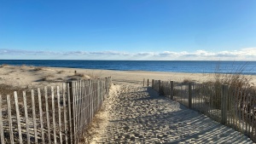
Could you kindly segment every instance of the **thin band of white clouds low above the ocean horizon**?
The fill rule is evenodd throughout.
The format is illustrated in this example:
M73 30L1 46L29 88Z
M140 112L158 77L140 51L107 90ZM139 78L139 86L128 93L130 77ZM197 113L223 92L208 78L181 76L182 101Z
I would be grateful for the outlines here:
M90 59L97 60L256 60L256 48L246 48L240 50L224 50L211 52L199 49L194 52L137 52L129 53L122 51L44 51L44 50L22 50L22 49L0 49L0 55L40 55L52 56L59 55L68 59Z

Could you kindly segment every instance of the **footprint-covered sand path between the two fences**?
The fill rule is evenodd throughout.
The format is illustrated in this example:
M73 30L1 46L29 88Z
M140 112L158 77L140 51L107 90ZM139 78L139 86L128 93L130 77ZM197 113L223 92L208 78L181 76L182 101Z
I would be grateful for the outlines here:
M113 87L107 101L107 123L91 143L253 143L153 89Z

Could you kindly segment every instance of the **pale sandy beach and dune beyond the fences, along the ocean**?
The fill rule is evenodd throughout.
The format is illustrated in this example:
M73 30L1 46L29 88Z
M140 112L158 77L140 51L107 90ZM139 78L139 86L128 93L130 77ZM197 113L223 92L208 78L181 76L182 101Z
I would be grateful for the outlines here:
M75 74L76 71L76 74ZM206 82L214 78L214 73L182 72L146 72L146 71L112 71L64 67L37 66L1 66L0 84L11 84L18 87L36 88L45 84L56 85L68 80L112 77L114 84L143 84L143 78L172 80L182 82L184 79L193 82ZM256 84L256 75L250 75Z

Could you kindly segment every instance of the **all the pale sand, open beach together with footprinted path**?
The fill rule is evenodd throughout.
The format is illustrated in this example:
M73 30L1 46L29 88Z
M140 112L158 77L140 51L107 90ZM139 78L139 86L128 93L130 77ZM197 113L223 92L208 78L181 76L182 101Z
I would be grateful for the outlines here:
M0 84L14 89L111 76L110 94L87 130L85 143L253 143L247 136L143 87L143 78L205 82L214 74L34 66L1 66L0 73ZM255 76L252 78L255 83Z

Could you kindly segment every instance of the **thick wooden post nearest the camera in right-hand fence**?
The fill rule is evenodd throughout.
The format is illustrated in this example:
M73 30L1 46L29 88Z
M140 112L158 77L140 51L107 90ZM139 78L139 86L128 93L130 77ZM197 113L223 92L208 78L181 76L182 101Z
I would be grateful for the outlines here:
M222 95L221 95L221 124L226 124L227 123L228 89L229 89L229 85L224 84L222 86Z

